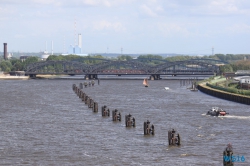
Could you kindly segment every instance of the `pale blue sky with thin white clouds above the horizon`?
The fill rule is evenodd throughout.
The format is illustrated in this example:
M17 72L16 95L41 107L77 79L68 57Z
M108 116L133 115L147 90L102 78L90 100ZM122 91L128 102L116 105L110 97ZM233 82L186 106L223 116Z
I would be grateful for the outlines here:
M250 54L250 1L0 0L8 52L67 53L78 33L82 53Z

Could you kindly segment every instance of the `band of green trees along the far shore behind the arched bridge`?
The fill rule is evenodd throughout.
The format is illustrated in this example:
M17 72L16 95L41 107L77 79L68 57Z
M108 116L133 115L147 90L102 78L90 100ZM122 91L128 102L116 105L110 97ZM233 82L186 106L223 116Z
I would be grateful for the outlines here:
M88 59L92 58L92 59ZM116 58L116 60L132 60L134 57L130 55L121 55ZM233 72L237 70L249 70L250 64L249 60L250 59L250 54L240 54L240 55L233 55L233 54L215 54L213 56L188 56L188 55L179 55L179 56L172 56L172 57L162 57L160 55L153 55L153 54L148 54L148 55L140 55L137 57L137 59L147 62L152 65L157 65L160 63L163 63L163 61L159 60L167 60L167 61L184 61L184 60L189 60L189 59L199 59L199 58L212 58L212 59L217 59L221 61L228 61L231 64L230 65L224 65L221 66L221 71L222 72ZM86 60L88 59L88 60ZM67 61L78 61L78 62L83 62L85 64L96 64L100 63L101 60L98 59L106 59L102 55L94 55L94 56L78 56L78 55L50 55L47 58L47 61L50 60L67 60ZM156 59L156 60L152 60ZM247 59L246 61L239 61L239 62L234 62L237 60L243 60ZM36 56L31 56L27 58L25 61L21 61L20 59L10 59L10 60L1 60L0 62L0 71L21 71L21 70L26 70L27 65L30 63L35 63L38 62L39 58Z

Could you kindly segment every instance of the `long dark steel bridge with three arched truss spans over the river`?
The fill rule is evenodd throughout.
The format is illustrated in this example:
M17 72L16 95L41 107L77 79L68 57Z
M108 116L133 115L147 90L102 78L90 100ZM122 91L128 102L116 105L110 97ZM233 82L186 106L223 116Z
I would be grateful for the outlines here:
M85 61L95 61L89 65ZM158 61L157 64L150 62ZM43 61L27 66L26 75L38 74L85 75L85 78L97 79L98 75L149 75L152 80L161 75L214 75L218 74L219 64L224 62L211 59L190 59L186 61L166 61L161 59L133 59L128 61L98 58L81 58L74 61Z

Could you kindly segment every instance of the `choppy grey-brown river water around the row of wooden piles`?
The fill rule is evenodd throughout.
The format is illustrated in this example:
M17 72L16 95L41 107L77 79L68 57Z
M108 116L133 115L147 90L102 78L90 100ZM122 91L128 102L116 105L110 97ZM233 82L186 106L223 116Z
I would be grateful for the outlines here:
M250 165L250 107L180 87L179 81L101 80L83 91L99 103L92 110L72 91L80 80L0 81L0 165L222 165L230 142L234 154ZM164 87L170 90L165 90ZM107 105L122 122L103 118ZM218 106L228 117L210 117ZM126 128L125 114L136 119ZM143 122L155 136L143 135ZM169 147L175 128L182 145Z

